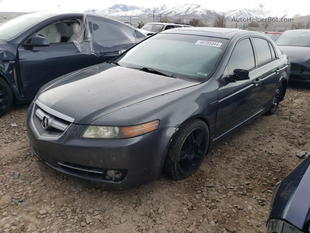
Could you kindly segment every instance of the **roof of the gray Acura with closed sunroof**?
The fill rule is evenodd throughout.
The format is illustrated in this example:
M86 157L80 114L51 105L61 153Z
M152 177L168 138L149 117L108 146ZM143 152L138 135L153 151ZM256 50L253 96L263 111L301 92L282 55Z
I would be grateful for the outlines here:
M263 36L260 32L239 30L232 28L211 28L211 27L185 27L185 28L173 28L164 30L159 33L173 33L173 34L190 34L190 35L202 35L210 37L218 37L224 39L230 39L234 35L242 33L244 36Z

